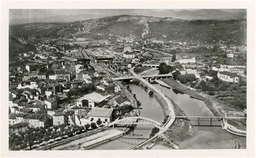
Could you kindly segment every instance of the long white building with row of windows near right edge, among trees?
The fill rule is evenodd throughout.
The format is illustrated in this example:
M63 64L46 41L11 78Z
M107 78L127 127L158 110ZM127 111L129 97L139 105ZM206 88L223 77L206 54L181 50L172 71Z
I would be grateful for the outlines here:
M222 81L233 82L233 83L241 83L242 78L240 75L235 73L231 73L228 71L220 71L217 74L218 78Z

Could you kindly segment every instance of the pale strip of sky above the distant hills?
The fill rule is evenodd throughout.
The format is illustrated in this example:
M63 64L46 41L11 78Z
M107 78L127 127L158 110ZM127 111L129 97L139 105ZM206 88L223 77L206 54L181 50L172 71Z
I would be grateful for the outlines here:
M180 11L182 9L172 9L172 10ZM246 10L241 10L241 9L218 9L218 10L226 11L226 12L246 12ZM134 10L132 9L10 9L9 17L10 19L44 18L44 17L51 17L51 16L79 15L79 14L116 16L116 15L132 14L133 11ZM160 10L152 9L152 11L160 11Z

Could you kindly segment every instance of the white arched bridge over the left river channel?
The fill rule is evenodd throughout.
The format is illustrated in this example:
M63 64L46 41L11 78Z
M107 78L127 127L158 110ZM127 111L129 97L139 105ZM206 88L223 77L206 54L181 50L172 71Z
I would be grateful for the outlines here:
M157 128L159 128L159 130L161 129L161 124L158 123L158 121L155 121L155 120L152 120L149 118L145 118L145 117L126 117L123 119L113 121L111 124L109 124L109 127L113 126L113 128L114 128L114 125L117 125L117 124L119 124L119 125L130 125L130 124L132 124L132 125L154 125Z

